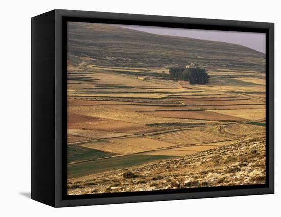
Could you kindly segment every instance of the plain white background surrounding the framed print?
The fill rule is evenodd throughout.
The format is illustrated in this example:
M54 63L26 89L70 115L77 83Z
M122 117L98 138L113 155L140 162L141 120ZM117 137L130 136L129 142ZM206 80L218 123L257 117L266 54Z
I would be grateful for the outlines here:
M275 80L281 79L278 1L1 1L0 215L277 216L280 214L280 114L275 113L275 194L54 209L29 199L31 182L31 17L59 8L275 22ZM275 111L281 109L280 85ZM279 200L279 201L278 201ZM278 214L277 214L278 213ZM269 215L270 216L270 215Z

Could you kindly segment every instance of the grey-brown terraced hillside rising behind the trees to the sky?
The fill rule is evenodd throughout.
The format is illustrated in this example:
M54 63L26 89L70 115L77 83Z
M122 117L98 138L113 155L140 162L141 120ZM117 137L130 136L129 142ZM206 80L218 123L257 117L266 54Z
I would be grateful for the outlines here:
M115 67L184 66L265 71L265 55L253 49L186 37L156 35L119 26L68 23L68 59Z

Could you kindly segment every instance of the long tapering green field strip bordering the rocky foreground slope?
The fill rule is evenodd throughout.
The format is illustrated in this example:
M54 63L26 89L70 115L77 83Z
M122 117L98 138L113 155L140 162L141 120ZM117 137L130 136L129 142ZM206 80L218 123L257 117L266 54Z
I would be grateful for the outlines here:
M91 175L94 173L123 169L127 167L146 164L151 161L170 159L175 156L163 155L127 155L108 159L93 160L79 164L68 165L68 179Z

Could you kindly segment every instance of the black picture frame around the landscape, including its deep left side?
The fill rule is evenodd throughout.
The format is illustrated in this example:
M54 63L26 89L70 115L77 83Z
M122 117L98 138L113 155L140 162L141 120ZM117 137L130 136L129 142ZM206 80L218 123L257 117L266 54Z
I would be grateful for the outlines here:
M32 199L53 207L274 193L274 23L52 10L32 18ZM266 184L66 195L66 22L266 33Z

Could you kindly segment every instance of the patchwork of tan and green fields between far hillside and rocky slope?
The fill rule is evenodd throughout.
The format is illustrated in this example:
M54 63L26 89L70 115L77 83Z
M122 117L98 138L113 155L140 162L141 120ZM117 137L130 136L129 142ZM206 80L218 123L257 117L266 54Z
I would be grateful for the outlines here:
M232 79L238 81L236 87L226 78L224 85L182 88L153 76L139 80L111 69L102 74L97 66L80 68L92 73L68 85L69 179L193 155L265 134L261 78ZM114 79L109 85L110 73Z

